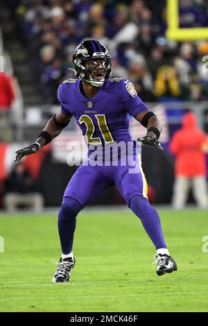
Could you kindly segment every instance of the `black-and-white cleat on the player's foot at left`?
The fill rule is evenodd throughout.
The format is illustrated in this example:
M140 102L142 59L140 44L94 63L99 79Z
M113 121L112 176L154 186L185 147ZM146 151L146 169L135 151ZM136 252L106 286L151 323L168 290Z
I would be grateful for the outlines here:
M69 282L71 268L75 265L75 257L60 258L60 261L52 259L54 264L58 265L55 274L53 275L53 283L66 283Z

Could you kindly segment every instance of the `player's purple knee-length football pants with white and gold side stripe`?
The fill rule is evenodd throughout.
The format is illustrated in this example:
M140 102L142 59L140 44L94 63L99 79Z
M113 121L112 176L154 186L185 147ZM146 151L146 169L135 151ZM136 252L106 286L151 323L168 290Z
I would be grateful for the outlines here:
M128 205L135 195L147 198L147 183L139 157L136 157L135 162L129 162L125 166L121 166L121 159L118 166L85 165L87 162L74 173L63 198L75 198L82 207L85 207L112 185L116 185Z

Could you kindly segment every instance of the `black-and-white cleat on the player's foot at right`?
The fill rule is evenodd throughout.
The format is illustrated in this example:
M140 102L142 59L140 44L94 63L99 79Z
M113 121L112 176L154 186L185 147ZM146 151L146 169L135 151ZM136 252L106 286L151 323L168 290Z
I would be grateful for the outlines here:
M165 273L172 273L177 271L177 265L175 260L168 255L155 255L155 261L153 264L157 263L156 273L158 276L164 275Z

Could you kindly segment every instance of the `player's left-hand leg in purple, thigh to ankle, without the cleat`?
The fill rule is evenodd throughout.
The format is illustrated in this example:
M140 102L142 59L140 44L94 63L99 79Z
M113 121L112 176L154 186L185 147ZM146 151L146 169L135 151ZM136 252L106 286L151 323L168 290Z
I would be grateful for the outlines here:
M110 184L105 171L110 166L85 166L78 168L64 191L58 216L58 230L63 257L72 251L76 216L87 203L95 200Z

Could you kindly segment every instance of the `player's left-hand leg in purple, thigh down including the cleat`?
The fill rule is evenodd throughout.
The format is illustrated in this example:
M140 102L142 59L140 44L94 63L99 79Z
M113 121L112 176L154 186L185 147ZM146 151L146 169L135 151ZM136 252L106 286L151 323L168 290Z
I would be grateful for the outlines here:
M58 231L62 247L62 257L53 282L69 282L71 268L75 264L73 256L73 234L76 216L87 203L99 196L108 186L107 178L102 178L100 166L80 166L64 191L58 214Z

